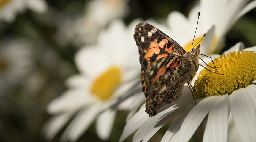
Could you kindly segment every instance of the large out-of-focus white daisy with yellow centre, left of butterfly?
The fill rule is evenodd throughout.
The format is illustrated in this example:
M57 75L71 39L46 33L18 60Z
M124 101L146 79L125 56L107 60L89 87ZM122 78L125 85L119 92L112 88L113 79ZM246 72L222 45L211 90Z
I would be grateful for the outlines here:
M96 45L85 46L77 52L75 63L80 74L68 78L69 89L47 107L53 115L44 128L47 138L53 138L72 117L62 140L76 141L94 120L99 138L109 138L116 117L116 109L110 106L139 81L138 48L132 37L136 23L126 27L115 20L100 33ZM120 104L120 109L124 106L127 105Z

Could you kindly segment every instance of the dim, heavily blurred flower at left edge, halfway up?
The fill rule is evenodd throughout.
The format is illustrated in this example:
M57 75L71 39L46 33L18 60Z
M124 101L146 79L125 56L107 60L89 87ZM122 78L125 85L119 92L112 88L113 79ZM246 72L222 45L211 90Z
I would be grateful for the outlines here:
M0 92L21 83L33 67L31 43L8 39L0 43Z

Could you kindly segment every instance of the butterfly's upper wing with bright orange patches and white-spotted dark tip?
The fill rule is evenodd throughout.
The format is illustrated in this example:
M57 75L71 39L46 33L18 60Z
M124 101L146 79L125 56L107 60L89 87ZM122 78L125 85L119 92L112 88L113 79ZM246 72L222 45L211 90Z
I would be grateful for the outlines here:
M170 56L182 56L186 51L172 38L148 23L136 25L134 39L139 48L142 91L147 97L144 72L155 60Z

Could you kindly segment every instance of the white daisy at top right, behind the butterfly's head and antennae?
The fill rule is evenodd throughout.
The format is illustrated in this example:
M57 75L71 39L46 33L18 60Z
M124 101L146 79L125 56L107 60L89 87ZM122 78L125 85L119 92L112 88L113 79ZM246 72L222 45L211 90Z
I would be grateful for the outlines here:
M190 51L198 11L201 11L198 21L194 43L200 41L204 33L206 37L202 42L200 53L219 53L223 39L238 19L251 9L256 7L256 1L249 0L200 0L199 4L191 9L188 17L180 12L171 12L167 17L171 37L177 41L186 51Z

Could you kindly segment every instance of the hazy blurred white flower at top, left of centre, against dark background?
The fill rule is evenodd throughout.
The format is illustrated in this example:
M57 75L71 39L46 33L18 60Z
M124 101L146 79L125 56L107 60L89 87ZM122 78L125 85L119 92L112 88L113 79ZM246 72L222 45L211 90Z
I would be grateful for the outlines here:
M92 0L78 18L67 17L59 21L57 39L61 44L82 46L95 43L99 31L110 21L124 17L128 12L128 0ZM72 20L71 20L72 19Z

